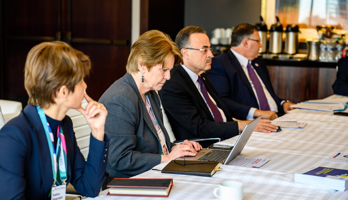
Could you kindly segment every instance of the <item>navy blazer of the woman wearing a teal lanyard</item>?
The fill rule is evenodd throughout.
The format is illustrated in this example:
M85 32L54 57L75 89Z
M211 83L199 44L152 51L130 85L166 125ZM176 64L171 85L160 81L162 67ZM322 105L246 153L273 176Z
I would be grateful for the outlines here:
M90 137L87 162L76 143L70 117L61 123L68 156L68 180L87 197L96 197L104 180L109 141ZM108 140L108 136L105 136ZM106 155L104 157L104 155ZM44 127L35 106L0 130L0 199L48 199L52 166Z

